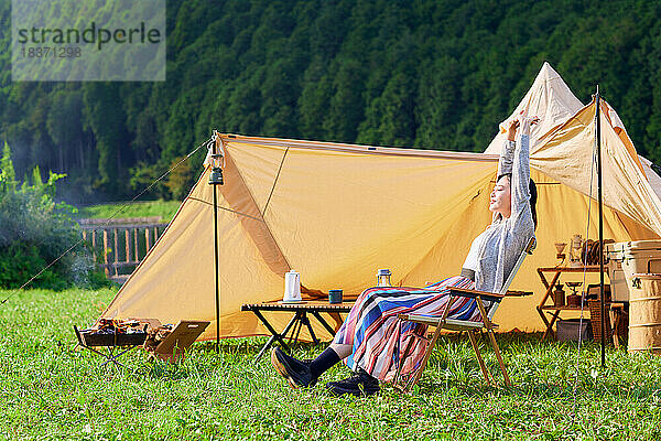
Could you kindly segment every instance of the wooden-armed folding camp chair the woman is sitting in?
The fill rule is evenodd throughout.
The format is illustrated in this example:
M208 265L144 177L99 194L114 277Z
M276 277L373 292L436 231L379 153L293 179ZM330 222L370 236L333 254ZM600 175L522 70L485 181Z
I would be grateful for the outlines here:
M500 355L500 349L498 348L498 343L496 343L496 336L494 335L494 329L498 327L498 325L494 324L491 322L491 319L494 318L494 314L496 313L496 310L498 309L500 301L502 300L502 298L506 294L513 294L513 295L530 295L530 294L532 294L531 292L508 291L508 288L512 283L512 280L514 279L517 271L521 267L521 263L523 263L523 259L525 258L525 256L529 254L532 254L534 244L535 244L535 239L534 239L534 237L532 237L530 239L530 241L528 243L528 246L525 247L525 249L523 249L523 251L521 251L521 256L519 256L519 259L517 260L514 268L512 268L512 271L510 272L507 281L502 286L502 289L500 290L499 293L476 291L476 290L463 289L463 288L451 288L449 289L449 300L447 301L447 305L445 306L445 309L443 310L443 313L441 315L429 315L429 314L399 314L398 315L398 319L400 320L398 329L400 330L400 332L402 329L401 325L404 322L412 322L415 324L436 326L436 330L435 330L432 338L427 338L422 335L418 335L415 333L412 334L411 338L409 340L409 343L407 344L407 347L404 348L404 352L402 354L398 354L397 373L395 373L394 381L393 381L394 387L397 387L398 389L400 389L402 391L408 391L414 384L418 383L418 380L420 379L420 376L422 375L422 372L426 367L426 363L427 363L430 355L434 348L434 345L436 344L436 340L438 340L438 336L441 335L442 330L458 331L458 332L466 331L466 333L468 334L468 338L470 340L473 349L475 351L475 355L477 357L477 362L479 363L479 367L483 372L483 375L485 376L487 384L489 386L491 386L491 380L494 380L494 383L496 383L496 380L494 379L490 370L488 370L487 366L485 365L485 362L479 353L477 340L475 337L475 335L477 333L481 333L483 330L486 330L487 333L489 334L491 345L494 346L494 352L496 353L496 358L498 358L498 364L500 365L500 370L502 372L502 377L505 379L505 384L508 387L511 386L509 376L507 375L507 369L505 367L505 362L502 361L502 356ZM477 308L478 308L480 316L481 316L481 322L472 322L472 321L467 321L467 320L457 320L457 319L448 319L447 318L447 314L449 313L449 310L451 310L454 301L457 299L457 297L467 297L470 299L475 299L475 301L477 303ZM483 299L490 302L488 311L487 311L487 308L485 308ZM408 353L411 349L411 346L413 345L413 343L416 338L426 342L427 347L426 347L424 356L420 363L420 366L418 366L418 368L415 368L411 374L409 374L407 376L407 378L404 378L401 375L401 369L402 369L402 366L404 365L407 357L409 356ZM401 334L400 334L400 340L401 340Z

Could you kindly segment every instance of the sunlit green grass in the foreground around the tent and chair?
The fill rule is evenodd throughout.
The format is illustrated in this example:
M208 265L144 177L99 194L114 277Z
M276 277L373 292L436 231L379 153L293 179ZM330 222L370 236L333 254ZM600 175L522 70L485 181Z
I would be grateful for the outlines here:
M2 299L8 294L0 291ZM73 324L90 323L112 290L23 291L0 305L0 437L72 440L655 440L661 439L661 358L583 352L539 335L502 335L514 383L488 388L467 342L442 338L421 386L400 395L332 398L323 385L290 389L264 357L263 338L195 344L177 365L126 356L104 369L73 352ZM483 343L484 344L484 343ZM299 346L308 357L319 348ZM495 367L489 351L487 363ZM336 366L325 380L347 375ZM574 415L575 409L575 415Z

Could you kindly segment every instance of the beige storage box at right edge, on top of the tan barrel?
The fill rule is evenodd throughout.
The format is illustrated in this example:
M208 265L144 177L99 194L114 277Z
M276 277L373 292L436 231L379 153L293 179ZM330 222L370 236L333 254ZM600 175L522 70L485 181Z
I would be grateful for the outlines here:
M606 244L606 261L613 301L628 302L629 287L637 272L661 273L661 240Z

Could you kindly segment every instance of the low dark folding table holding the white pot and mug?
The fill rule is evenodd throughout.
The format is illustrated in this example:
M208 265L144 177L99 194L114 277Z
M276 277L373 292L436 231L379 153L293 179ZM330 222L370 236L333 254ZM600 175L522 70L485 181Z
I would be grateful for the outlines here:
M311 314L313 318L315 318L317 322L319 322L322 326L324 326L324 329L330 333L330 335L335 335L336 330L333 329L333 326L330 326L328 322L326 322L326 320L324 320L321 313L349 312L353 305L354 302L344 302L337 304L330 304L327 301L304 301L301 303L266 302L242 304L241 311L252 312L263 323L264 327L271 333L271 337L269 338L269 341L263 345L259 354L257 354L257 359L260 359L264 352L267 352L275 341L278 341L282 345L282 347L284 347L284 349L289 352L290 347L285 342L286 334L291 330L292 334L290 335L289 341L290 344L292 343L292 340L293 343L295 343L299 340L299 334L301 333L301 329L303 327L303 325L307 327L307 331L310 332L314 344L317 344L319 341L314 334L307 314ZM294 316L292 318L292 320L290 320L286 326L284 326L284 330L282 330L282 332L278 332L264 318L264 315L262 314L263 311L280 311L289 313L293 312Z

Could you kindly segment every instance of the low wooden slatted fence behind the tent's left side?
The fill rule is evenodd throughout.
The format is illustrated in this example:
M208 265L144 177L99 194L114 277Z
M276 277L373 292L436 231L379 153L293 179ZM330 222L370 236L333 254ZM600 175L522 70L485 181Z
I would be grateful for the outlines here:
M167 226L161 217L78 219L94 261L108 278L124 281Z

